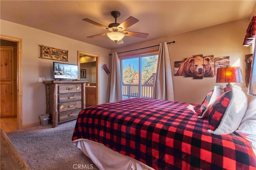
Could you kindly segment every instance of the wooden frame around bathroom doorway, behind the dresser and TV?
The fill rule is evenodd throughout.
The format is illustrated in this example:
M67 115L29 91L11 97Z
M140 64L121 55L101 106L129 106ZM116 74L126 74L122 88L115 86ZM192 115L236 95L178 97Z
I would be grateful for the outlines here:
M82 51L77 51L77 65L78 69L80 70L80 55L87 55L89 57L96 57L96 104L99 104L99 55L86 53ZM79 72L79 78L80 78L80 71Z

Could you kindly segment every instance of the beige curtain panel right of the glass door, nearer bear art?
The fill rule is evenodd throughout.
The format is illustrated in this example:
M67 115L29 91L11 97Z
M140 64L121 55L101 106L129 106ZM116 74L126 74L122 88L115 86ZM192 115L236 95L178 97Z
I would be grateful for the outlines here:
M167 43L160 43L156 68L156 79L153 84L153 98L174 101L172 68Z

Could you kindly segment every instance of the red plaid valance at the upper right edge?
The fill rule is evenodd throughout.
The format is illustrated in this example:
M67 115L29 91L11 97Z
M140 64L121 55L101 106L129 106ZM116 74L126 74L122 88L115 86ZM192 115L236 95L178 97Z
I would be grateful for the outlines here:
M252 45L253 40L255 39L255 29L256 29L256 15L252 17L252 20L246 30L246 35L244 37L243 45L248 47Z

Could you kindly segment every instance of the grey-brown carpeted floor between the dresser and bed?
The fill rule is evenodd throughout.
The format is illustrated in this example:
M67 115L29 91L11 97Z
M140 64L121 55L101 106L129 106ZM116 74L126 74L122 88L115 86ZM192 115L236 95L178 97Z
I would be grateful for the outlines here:
M71 143L75 124L76 120L60 123L55 128L51 124L37 125L7 135L32 170L73 170L78 167L97 170L90 158Z

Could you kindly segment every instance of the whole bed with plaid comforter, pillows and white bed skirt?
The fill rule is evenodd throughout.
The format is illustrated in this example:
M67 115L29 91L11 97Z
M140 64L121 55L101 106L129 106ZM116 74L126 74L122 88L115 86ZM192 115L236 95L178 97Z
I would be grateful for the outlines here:
M72 143L100 170L256 169L256 96L245 80L214 86L200 105L132 98L88 107Z

